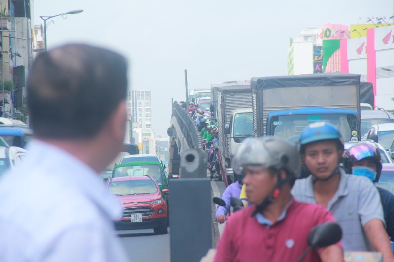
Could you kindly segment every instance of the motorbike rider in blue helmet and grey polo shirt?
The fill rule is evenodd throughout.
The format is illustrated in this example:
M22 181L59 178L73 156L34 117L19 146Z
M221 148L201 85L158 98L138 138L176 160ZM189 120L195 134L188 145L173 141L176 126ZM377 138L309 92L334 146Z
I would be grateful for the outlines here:
M301 132L299 149L311 175L296 181L294 198L332 212L346 252L376 250L385 262L394 261L378 190L368 179L339 167L344 150L340 131L327 122L312 123Z

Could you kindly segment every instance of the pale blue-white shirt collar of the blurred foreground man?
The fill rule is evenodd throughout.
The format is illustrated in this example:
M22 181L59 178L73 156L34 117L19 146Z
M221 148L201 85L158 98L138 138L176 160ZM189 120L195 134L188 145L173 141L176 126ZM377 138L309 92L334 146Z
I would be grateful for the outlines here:
M57 175L67 186L82 192L108 217L114 219L121 216L121 205L115 196L109 194L99 174L87 164L62 148L37 139L32 140L28 151L32 156L30 161L54 170L53 175ZM26 161L29 161L28 158Z

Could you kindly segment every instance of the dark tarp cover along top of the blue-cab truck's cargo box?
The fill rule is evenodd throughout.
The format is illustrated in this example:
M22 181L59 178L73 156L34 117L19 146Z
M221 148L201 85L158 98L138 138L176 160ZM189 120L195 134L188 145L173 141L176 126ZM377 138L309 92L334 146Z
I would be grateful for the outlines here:
M252 90L280 87L314 87L359 85L360 75L347 73L323 73L293 76L253 77L250 80Z

